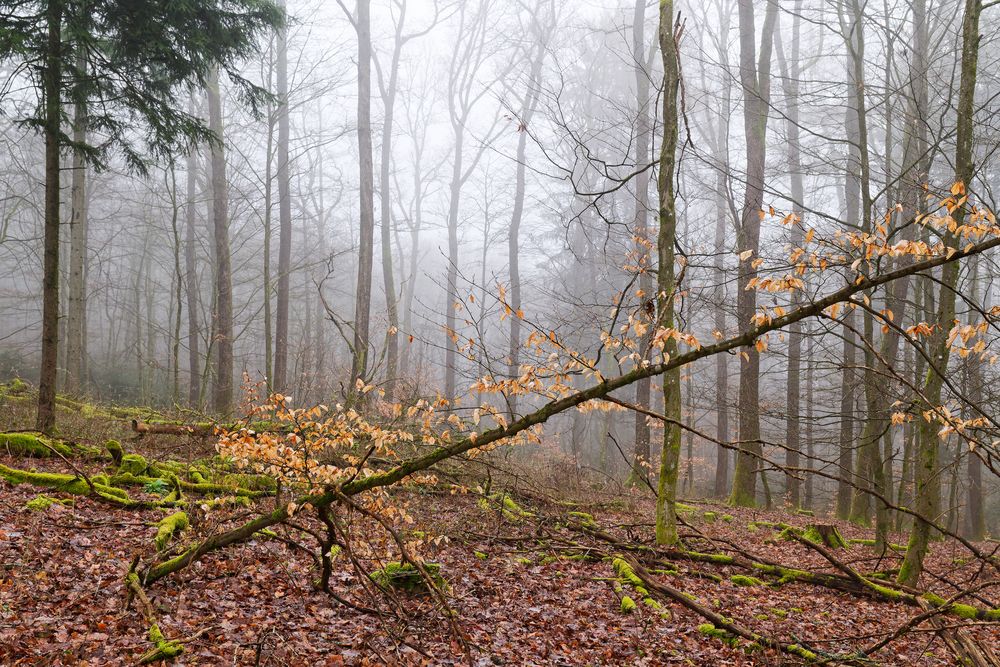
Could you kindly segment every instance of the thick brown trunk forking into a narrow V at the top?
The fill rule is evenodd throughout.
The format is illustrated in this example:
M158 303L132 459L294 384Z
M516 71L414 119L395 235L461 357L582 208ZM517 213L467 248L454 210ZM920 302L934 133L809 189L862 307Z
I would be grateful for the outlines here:
M756 28L754 3L739 2L740 84L743 87L743 126L747 142L746 192L740 225L737 230L737 250L747 250L752 256L739 266L739 294L736 314L740 331L746 332L757 310L757 293L746 289L756 275L753 260L760 251L760 213L764 199L764 164L767 148L767 118L771 100L771 48L778 3L768 0L761 30L760 53L755 46ZM733 489L729 502L750 507L756 504L757 461L760 444L760 356L753 345L740 353L739 439L742 443L736 457Z

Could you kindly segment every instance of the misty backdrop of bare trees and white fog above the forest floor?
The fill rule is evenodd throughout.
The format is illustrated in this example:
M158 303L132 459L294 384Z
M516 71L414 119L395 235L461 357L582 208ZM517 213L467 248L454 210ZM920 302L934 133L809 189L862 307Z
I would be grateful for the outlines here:
M2 63L0 376L43 410L232 415L245 374L298 405L374 385L513 422L539 393L477 381L543 365L539 339L583 389L653 363L663 330L671 357L749 335L552 415L538 446L567 484L659 483L665 514L676 488L913 524L924 548L1000 530L996 255L866 254L981 240L962 225L997 208L1000 6L223 3L252 27L130 93L155 54L87 44L141 26L32 4L73 22L2 27L8 51L36 32ZM942 202L950 228L926 224Z

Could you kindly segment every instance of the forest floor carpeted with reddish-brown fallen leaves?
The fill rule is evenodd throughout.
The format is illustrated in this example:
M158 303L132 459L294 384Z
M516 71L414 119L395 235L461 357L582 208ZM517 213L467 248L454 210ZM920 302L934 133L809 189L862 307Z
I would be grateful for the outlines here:
M74 420L75 423L74 423ZM126 441L125 426L95 425L67 418L64 433L87 433L92 444L122 438L146 456L182 459L204 443L147 437ZM24 427L16 411L3 412L0 427ZM0 464L70 472L58 459L25 460L0 453ZM104 464L84 465L89 474ZM531 485L526 485L530 487ZM379 606L372 615L345 607L311 582L311 558L275 539L261 536L217 551L192 567L149 587L159 626L183 642L176 664L203 665L782 665L806 661L751 646L745 640L706 633L705 619L667 599L643 601L642 592L623 582L611 558L621 544L650 544L654 506L638 491L610 493L578 489L560 497L535 490L514 493L516 508L484 502L474 493L408 487L393 493L414 522L412 535L425 540L425 555L440 563L447 581L449 614L430 595L400 592L381 601L366 597L346 558L335 561L334 589L357 604ZM494 486L494 490L497 487ZM126 607L124 576L136 556L155 554L158 509L120 509L85 497L72 506L32 510L39 493L27 484L0 480L0 664L135 664L150 647L142 614ZM142 497L134 494L133 497ZM268 508L196 512L183 541L211 534ZM727 551L735 545L759 556L813 572L836 574L823 556L796 541L778 539L766 523L806 526L819 521L781 511L728 508L688 501L682 536L698 551ZM583 517L567 520L569 512ZM530 515L529 515L530 514ZM590 519L589 516L593 518ZM580 521L584 524L581 529ZM824 520L825 521L825 520ZM599 525L620 541L595 539L586 530ZM847 538L870 531L837 524ZM352 532L368 551L388 541L358 519ZM366 533L370 531L370 535ZM894 535L893 541L904 541ZM980 545L995 551L996 543ZM359 549L358 553L363 550ZM871 547L852 544L838 558L862 572L898 567L900 555L880 557ZM671 561L674 572L653 576L694 596L700 604L746 628L782 643L807 646L823 655L846 655L875 643L921 613L920 608L878 601L817 585L773 579L744 581L733 565ZM959 587L991 578L970 562L954 542L937 542L928 557L921 588L948 597ZM372 569L377 559L369 563ZM995 578L995 572L992 573ZM947 581L945 581L947 579ZM950 582L950 583L949 583ZM749 584L749 585L739 585ZM637 603L623 612L622 597ZM976 604L1000 606L1000 591L987 588ZM384 598L385 596L383 596ZM655 596L654 596L655 597ZM1000 650L1000 625L961 622L983 645ZM699 629L699 626L702 626ZM918 625L876 654L854 664L949 665L951 651L933 628Z

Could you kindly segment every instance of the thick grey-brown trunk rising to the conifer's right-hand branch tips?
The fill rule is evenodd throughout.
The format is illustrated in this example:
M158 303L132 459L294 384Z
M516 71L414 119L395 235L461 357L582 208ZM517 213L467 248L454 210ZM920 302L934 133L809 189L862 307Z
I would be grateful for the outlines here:
M229 257L229 185L223 147L222 99L219 73L214 70L208 86L208 124L215 134L212 143L212 229L215 247L215 307L212 328L215 348L215 387L212 409L222 415L233 404L233 283Z

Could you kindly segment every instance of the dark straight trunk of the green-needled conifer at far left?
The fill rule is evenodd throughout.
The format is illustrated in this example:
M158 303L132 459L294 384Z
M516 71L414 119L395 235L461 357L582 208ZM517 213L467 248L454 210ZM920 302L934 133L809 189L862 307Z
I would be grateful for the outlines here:
M61 36L63 4L47 3L47 41L42 70L45 105L45 231L42 253L42 360L38 380L38 412L35 428L50 433L56 425L56 379L59 359L59 124L62 102L59 83L62 73Z

